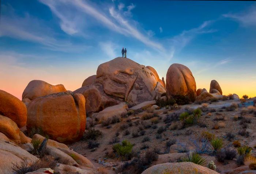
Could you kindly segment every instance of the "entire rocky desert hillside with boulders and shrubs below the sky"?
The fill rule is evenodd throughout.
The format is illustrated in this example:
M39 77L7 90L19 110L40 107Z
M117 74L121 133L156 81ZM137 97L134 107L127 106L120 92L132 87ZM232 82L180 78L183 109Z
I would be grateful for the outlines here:
M34 79L22 101L0 90L0 173L256 173L256 98L217 80L200 89L185 65L161 78L117 57L75 91Z

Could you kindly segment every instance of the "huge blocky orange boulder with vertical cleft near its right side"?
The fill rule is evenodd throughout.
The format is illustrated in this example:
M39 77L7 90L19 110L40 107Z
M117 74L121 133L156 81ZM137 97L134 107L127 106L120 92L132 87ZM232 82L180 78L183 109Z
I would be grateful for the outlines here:
M82 94L54 94L37 98L28 106L27 129L41 128L51 139L61 143L80 140L85 130L85 99Z

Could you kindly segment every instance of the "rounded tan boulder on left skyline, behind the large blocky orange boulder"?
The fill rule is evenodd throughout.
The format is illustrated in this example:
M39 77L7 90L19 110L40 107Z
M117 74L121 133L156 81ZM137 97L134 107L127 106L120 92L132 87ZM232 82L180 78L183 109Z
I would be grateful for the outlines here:
M22 99L34 100L49 94L67 91L63 84L52 85L42 80L32 80L23 91Z

